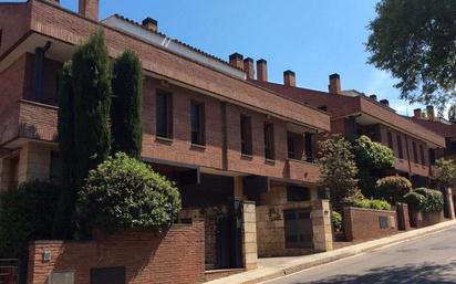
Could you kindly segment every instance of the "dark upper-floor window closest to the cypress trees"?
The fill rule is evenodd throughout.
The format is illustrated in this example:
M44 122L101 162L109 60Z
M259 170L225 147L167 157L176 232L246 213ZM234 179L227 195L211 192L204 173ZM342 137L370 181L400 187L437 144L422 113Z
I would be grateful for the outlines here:
M172 94L158 90L156 103L156 135L159 137L173 138Z

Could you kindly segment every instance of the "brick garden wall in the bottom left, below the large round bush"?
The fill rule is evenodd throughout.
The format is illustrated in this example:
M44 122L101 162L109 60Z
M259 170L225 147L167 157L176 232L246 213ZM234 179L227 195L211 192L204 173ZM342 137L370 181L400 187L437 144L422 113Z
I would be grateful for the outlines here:
M35 241L30 245L28 284L48 284L52 272L74 272L90 284L93 267L125 266L128 284L193 284L204 280L204 224L173 225L166 233L125 232L97 241ZM51 260L42 260L43 252Z

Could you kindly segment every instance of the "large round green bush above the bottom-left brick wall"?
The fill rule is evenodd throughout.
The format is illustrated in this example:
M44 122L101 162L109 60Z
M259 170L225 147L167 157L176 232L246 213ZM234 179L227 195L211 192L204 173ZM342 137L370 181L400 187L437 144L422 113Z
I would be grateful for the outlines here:
M179 210L180 197L174 182L123 152L90 171L76 206L80 223L106 233L159 231L175 221Z

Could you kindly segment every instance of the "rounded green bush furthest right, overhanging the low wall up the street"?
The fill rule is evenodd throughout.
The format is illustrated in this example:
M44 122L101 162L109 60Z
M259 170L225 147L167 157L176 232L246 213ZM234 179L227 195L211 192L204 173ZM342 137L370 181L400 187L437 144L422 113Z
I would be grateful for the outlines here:
M417 188L405 196L408 206L423 213L439 212L444 208L444 196L441 191L427 188Z

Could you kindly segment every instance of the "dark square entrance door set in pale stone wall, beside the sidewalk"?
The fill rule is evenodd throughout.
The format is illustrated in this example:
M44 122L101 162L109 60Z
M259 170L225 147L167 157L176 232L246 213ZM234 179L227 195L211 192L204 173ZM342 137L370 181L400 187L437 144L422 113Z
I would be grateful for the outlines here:
M287 249L313 249L311 209L283 210Z

